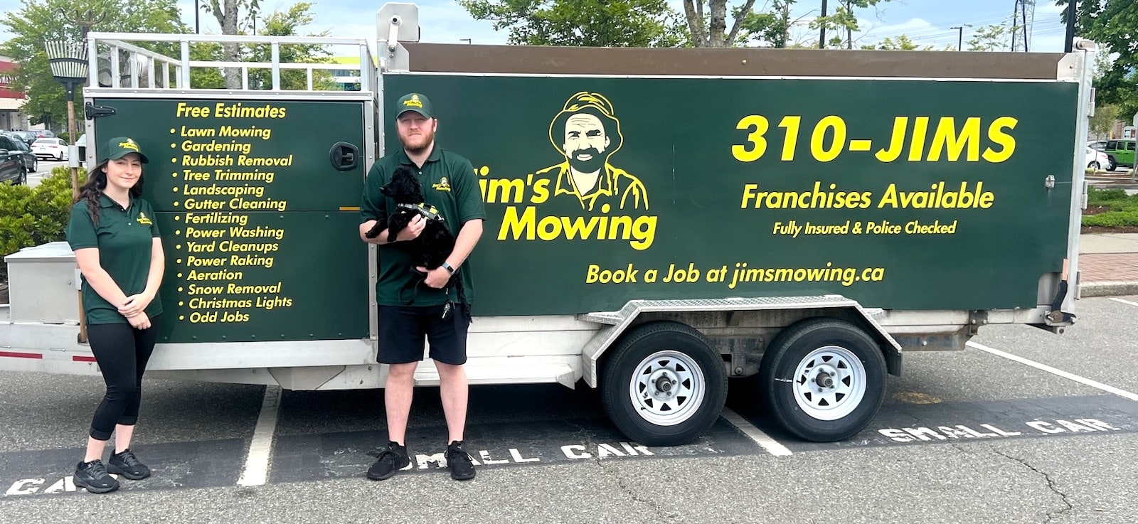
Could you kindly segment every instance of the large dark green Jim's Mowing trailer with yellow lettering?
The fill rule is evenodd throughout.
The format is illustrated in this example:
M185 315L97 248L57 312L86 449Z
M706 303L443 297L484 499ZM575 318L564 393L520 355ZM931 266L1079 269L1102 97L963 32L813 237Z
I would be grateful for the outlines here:
M377 19L374 58L358 40L89 34L114 65L99 84L108 67L92 58L88 161L119 135L151 158L168 321L155 376L384 386L358 206L368 167L399 147L407 92L431 98L438 141L472 160L488 213L467 266L471 383L599 388L641 443L700 435L728 379L751 382L791 433L846 439L906 352L960 350L988 324L1074 322L1090 42L1067 55L451 45L417 41L412 5ZM200 42L273 57L347 47L360 90L313 86L343 64L190 60ZM220 67L244 83L191 85L191 70ZM271 81L249 85L257 68ZM36 249L8 257L0 339L26 358L0 368L94 374L77 311L19 292L34 277L41 296L74 300L66 247ZM438 377L424 365L415 380Z

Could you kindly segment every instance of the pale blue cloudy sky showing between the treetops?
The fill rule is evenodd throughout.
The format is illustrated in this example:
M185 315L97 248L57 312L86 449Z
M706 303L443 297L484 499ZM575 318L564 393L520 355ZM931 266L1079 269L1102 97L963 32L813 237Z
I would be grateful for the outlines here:
M34 1L34 0L32 0ZM679 0L669 0L682 11ZM262 0L262 11L286 10L294 2L289 0ZM315 23L303 28L306 33L329 31L331 36L377 39L376 14L380 2L363 2L360 0L314 0L313 14ZM489 22L476 20L470 17L454 0L421 0L419 20L422 30L421 41L437 43L460 43L470 39L479 44L504 44L508 33L494 31ZM728 5L741 1L731 0ZM761 9L766 0L756 1L756 8ZM831 10L836 0L831 0ZM1038 0L1030 49L1032 51L1058 52L1063 50L1064 26L1059 20L1059 8L1054 0ZM800 26L792 32L798 40L816 39L815 31L805 26L806 20L819 14L820 0L799 0L792 11L793 19L802 19ZM18 10L19 0L0 0L0 9L6 13ZM192 0L180 0L182 20L190 27L195 26L195 3ZM964 26L964 42L978 27L998 24L1012 17L1015 0L890 0L876 8L858 10L863 31L855 35L855 47L872 44L885 38L896 39L900 34L908 35L921 45L933 45L943 49L956 45L958 32L950 27ZM213 15L203 13L200 16L203 33L220 33L217 20ZM972 27L970 27L971 25ZM0 40L10 34L0 32Z

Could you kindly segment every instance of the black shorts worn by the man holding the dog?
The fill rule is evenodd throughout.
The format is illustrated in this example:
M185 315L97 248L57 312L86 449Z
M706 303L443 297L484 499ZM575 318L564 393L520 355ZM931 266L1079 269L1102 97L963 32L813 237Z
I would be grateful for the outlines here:
M379 351L381 364L407 364L423 359L423 339L430 358L443 364L467 363L467 327L462 307L452 306L443 319L443 306L380 306Z

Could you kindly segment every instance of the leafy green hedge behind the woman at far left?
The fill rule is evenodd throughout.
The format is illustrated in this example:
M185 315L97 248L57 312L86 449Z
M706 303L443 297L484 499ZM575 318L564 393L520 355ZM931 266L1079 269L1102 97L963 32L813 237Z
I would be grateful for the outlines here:
M80 184L86 169L79 169ZM0 184L0 253L66 240L71 217L71 168L56 167L40 185ZM0 264L0 281L8 281L8 265Z

